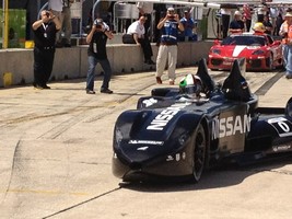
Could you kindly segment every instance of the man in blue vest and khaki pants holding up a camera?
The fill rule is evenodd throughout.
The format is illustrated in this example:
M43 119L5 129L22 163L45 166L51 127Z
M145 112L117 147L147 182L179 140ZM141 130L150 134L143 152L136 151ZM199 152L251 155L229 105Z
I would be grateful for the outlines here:
M161 41L156 59L156 82L162 83L161 76L168 58L168 79L170 84L173 85L177 62L178 30L184 31L184 25L174 8L167 9L166 16L159 22L157 28L161 30Z

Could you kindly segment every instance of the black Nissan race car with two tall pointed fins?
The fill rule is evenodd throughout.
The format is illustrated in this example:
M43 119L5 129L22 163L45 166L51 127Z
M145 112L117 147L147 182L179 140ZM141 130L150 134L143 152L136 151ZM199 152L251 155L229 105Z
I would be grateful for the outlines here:
M292 150L292 99L285 108L258 107L237 60L221 85L214 85L205 59L195 77L200 78L205 96L157 88L139 99L137 110L118 116L115 176L124 182L170 177L198 182L205 169L220 162L255 162Z

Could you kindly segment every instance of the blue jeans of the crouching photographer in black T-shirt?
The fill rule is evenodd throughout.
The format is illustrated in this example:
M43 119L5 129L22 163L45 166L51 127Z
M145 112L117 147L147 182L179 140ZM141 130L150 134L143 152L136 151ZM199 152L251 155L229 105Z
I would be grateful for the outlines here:
M95 67L97 64L101 64L104 70L104 80L102 89L108 89L109 80L112 77L112 68L108 59L97 59L94 56L89 56L89 71L86 79L86 90L93 91L94 89L94 77L95 77Z

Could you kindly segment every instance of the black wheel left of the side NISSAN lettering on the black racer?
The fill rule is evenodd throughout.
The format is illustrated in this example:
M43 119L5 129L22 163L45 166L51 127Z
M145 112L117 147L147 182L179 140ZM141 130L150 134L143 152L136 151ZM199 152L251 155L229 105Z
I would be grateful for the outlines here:
M203 172L206 163L206 135L202 125L192 135L194 154L192 154L192 180L198 182Z

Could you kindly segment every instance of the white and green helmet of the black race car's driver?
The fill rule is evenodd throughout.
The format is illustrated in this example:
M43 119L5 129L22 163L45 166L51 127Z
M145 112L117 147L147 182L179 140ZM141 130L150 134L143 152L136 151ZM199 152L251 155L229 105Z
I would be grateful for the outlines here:
M199 96L202 91L200 77L188 73L179 82L179 92L184 94L196 94Z

